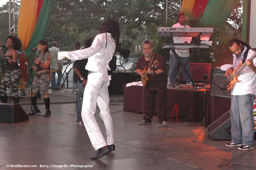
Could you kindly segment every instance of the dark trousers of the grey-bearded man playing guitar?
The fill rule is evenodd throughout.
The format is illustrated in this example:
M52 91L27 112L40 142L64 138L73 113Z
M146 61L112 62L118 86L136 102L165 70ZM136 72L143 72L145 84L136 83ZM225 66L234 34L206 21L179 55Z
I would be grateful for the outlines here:
M159 88L154 91L150 91L148 88L144 88L144 99L143 99L143 111L144 118L143 120L151 122L151 119L155 113L158 115L159 122L167 121L166 116L166 96L167 88Z

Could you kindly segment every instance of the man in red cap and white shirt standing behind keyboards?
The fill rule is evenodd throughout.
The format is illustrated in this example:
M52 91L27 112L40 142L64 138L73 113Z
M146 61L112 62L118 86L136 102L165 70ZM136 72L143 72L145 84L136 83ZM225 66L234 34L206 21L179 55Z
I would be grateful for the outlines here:
M190 26L185 24L185 14L183 12L178 13L177 20L178 20L178 23L174 24L172 27L187 27L187 28L190 28ZM173 37L173 39L174 39L174 43L187 44L187 43L191 42L192 37ZM189 49L175 49L175 51L178 54L180 60L183 62L183 64L189 59ZM169 69L168 76L169 76L170 81L172 82L174 80L174 77L175 77L175 72L176 72L176 67L178 65L178 60L171 51L170 51L170 62L169 63L170 63L170 69ZM190 67L189 67L189 62L185 66L184 69L186 69L187 72L192 77ZM185 78L186 84L187 85L192 85L192 82L189 79L189 76L185 73L184 70L182 71L182 73L183 73L183 76Z

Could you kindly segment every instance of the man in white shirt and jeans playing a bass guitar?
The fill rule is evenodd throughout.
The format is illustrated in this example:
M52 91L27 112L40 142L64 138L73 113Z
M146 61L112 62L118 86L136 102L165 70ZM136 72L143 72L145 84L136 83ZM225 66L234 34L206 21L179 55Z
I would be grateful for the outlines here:
M231 90L232 141L226 146L238 146L239 150L251 150L254 149L253 107L256 95L256 52L250 49L249 44L238 39L230 40L228 46L233 53L233 67L228 68L225 73L226 77L231 78L227 89Z

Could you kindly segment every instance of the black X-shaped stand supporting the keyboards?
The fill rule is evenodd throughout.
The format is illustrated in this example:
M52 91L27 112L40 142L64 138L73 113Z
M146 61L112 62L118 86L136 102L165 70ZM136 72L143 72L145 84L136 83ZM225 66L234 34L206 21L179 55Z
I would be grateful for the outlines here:
M178 62L180 63L180 71L178 72L178 74L174 77L174 80L169 84L170 86L174 85L174 82L176 82L176 80L178 79L178 77L180 76L180 73L183 71L183 69L185 68L185 66L189 63L189 60L191 59L191 57L196 53L196 51L198 50L198 48L193 49L193 52L189 55L188 60L183 64L183 62L180 60L178 54L176 53L175 49L171 49L172 53L174 54L174 56L176 57L176 59L178 60ZM170 63L171 64L171 63ZM186 72L186 74L188 75L190 81L192 82L192 84L195 84L196 82L194 81L194 79L191 77L191 75L188 73L188 71L185 69L184 70ZM183 75L184 76L184 75Z

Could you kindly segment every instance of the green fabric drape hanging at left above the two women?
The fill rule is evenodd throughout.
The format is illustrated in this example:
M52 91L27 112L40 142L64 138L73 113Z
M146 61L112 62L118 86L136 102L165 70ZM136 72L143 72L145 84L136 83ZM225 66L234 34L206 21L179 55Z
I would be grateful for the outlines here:
M52 7L53 7L53 0L44 0L41 11L40 11L40 15L36 22L36 27L33 31L33 35L29 42L29 46L25 51L26 55L30 54L32 52L31 49L37 46L38 41L45 36L46 28L49 23L49 18L52 11Z

